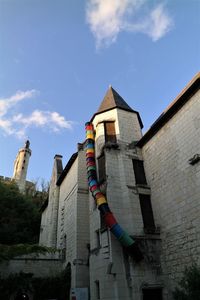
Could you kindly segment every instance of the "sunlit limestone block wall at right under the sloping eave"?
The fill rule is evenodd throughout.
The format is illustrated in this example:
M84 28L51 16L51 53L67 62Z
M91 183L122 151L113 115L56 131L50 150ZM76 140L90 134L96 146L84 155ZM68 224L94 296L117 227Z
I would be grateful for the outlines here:
M200 263L200 91L143 146L156 223L161 225L162 266L173 289L185 266Z

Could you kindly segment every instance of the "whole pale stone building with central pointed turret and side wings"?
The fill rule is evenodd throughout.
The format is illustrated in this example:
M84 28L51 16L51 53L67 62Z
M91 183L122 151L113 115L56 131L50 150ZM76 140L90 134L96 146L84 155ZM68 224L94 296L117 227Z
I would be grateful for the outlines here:
M110 87L90 120L98 187L135 250L108 228L88 188L87 143L56 155L40 244L63 253L72 299L171 300L184 268L200 264L200 73L142 135ZM91 127L92 128L92 127Z

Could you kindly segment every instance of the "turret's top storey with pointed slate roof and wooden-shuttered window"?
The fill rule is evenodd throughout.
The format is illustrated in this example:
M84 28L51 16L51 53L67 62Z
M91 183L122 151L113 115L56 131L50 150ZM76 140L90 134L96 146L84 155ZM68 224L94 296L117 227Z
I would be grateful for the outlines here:
M101 155L105 144L130 144L142 137L143 124L139 113L133 110L112 86L109 86L91 121L96 130L97 156Z

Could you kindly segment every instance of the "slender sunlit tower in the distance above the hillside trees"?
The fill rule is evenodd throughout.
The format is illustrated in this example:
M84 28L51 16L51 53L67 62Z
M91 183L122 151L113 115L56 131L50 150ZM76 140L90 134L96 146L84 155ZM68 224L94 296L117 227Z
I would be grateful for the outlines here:
M26 188L26 174L31 156L29 146L30 142L27 140L25 146L19 150L14 163L13 179L16 181L21 192L24 192Z

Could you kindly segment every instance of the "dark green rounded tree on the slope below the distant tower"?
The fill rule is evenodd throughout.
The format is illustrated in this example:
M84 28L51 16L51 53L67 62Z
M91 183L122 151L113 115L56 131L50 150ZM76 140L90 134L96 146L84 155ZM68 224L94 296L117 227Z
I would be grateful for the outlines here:
M38 242L41 213L15 183L0 181L0 244Z

